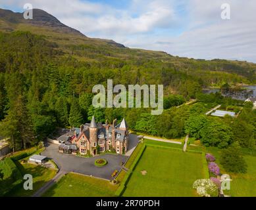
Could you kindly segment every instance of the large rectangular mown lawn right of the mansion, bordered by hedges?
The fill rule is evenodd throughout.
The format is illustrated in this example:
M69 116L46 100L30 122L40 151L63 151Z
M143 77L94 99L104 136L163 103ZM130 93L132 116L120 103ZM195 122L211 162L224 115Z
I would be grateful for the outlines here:
M147 146L122 196L197 196L192 185L205 178L202 164L201 154Z

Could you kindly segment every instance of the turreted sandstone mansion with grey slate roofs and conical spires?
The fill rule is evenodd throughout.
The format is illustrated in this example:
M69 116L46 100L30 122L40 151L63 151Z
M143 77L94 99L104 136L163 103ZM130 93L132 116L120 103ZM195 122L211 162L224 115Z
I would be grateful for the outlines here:
M95 156L99 152L112 151L116 154L125 154L128 150L128 125L125 119L121 123L113 124L107 121L105 125L96 123L94 116L91 123L81 125L80 129L75 129L74 135L68 137L66 142L59 146L59 152L65 154L76 154Z

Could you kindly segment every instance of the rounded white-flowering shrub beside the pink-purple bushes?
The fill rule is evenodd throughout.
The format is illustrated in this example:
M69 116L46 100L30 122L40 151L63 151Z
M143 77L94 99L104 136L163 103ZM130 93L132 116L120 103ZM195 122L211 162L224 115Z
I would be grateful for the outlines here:
M198 179L193 183L197 194L203 197L218 197L218 187L210 179Z

